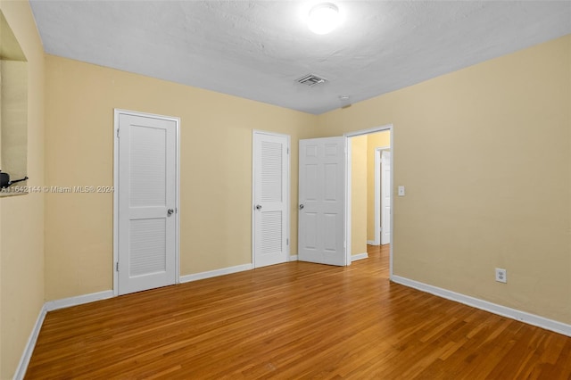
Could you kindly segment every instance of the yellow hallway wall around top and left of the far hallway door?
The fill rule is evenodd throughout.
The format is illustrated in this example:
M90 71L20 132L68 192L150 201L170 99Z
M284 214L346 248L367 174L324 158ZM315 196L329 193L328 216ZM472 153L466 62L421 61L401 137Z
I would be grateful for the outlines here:
M377 132L367 139L367 240L375 240L375 148L391 146L391 132ZM380 207L380 206L379 206Z

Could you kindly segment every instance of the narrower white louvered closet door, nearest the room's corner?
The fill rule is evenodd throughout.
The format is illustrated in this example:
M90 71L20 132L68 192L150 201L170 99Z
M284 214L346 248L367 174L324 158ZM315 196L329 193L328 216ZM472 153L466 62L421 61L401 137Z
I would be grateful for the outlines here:
M289 136L253 133L253 265L289 256Z

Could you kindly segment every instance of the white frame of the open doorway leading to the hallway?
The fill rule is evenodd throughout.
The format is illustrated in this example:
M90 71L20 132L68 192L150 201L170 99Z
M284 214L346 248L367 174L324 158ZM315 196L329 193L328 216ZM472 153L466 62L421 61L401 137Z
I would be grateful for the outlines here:
M345 248L345 260L347 265L351 264L351 211L352 211L352 202L351 202L351 183L352 183L352 172L351 172L351 164L352 164L352 154L351 154L351 144L349 144L349 138L354 136L362 136L362 135L370 135L377 132L384 132L389 131L391 133L390 136L390 148L391 148L391 210L393 209L393 202L394 202L394 128L393 124L386 124L380 127L373 127L368 129L360 129L354 132L347 132L344 133L343 136L345 137L345 236L346 236L346 248ZM394 224L393 224L393 215L394 212L391 212L391 246L389 248L389 278L393 278L393 233L394 233Z

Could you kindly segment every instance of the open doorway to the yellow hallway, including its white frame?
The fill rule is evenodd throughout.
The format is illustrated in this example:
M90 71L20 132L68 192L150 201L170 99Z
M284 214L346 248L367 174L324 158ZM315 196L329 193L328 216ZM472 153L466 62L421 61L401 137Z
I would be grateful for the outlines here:
M368 257L367 244L381 244L383 221L380 211L383 202L380 191L376 192L375 187L377 182L378 186L382 186L383 173L380 168L376 170L376 161L377 157L381 159L383 152L393 154L393 125L349 132L344 136L347 144L345 234L347 262L350 263ZM386 155L385 176L388 178L385 178L385 185L388 182L391 186L386 186L388 194L385 202L388 204L385 204L385 232L388 230L388 234L385 241L392 243L393 160L386 158ZM382 168L380 162L379 166ZM393 244L389 245L389 261L390 277L393 277Z

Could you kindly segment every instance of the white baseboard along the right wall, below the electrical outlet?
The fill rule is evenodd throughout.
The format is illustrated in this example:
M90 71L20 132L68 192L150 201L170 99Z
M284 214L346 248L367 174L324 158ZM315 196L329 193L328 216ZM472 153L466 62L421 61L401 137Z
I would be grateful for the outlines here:
M525 311L511 309L506 306L498 305L497 303L487 302L478 298L470 297L469 295L451 292L450 290L446 290L433 285L426 285L415 280L410 280L406 277L393 276L391 277L391 281L397 284L418 289L422 292L431 293L451 301L464 303L465 305L472 306L476 309L489 311L493 314L501 315L502 317L516 319L528 325L542 327L555 333L571 336L571 325L567 325L563 322L540 317Z

